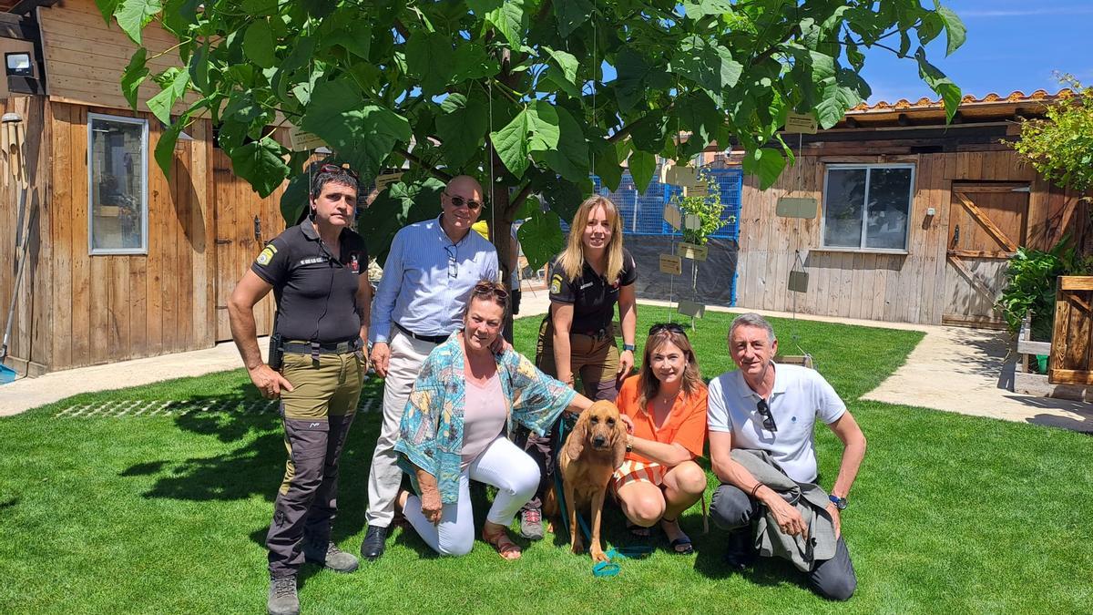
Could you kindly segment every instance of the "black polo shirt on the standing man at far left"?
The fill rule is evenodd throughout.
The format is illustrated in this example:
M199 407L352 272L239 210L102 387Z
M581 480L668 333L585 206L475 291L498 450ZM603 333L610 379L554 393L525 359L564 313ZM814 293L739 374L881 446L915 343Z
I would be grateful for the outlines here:
M343 229L336 259L309 219L273 237L250 270L273 285L277 333L284 339L334 344L361 336L356 291L367 283L364 239Z

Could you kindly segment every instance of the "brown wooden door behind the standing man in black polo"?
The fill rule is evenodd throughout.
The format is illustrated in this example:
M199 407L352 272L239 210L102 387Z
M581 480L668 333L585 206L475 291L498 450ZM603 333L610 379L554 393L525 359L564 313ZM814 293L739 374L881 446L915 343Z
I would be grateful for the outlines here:
M216 220L216 341L232 339L227 299L232 289L262 251L266 242L284 230L281 189L261 198L245 179L232 172L232 161L213 149L213 211ZM255 306L258 335L273 327L273 293Z

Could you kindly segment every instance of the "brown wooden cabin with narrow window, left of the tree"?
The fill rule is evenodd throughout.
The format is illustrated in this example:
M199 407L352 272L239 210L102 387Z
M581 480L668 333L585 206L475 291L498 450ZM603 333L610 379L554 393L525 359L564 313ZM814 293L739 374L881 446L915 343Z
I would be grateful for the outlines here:
M28 46L35 76L30 85L8 77L0 96L0 113L23 117L32 222L4 363L35 375L231 339L226 300L284 229L280 192L261 199L235 177L208 119L179 139L164 176L152 156L163 126L132 112L119 86L134 46L92 0L22 1L11 11L0 13L0 49ZM150 56L173 44L154 25L144 39ZM139 108L155 92L143 85ZM0 159L3 317L16 277L11 163ZM268 334L272 301L256 314Z

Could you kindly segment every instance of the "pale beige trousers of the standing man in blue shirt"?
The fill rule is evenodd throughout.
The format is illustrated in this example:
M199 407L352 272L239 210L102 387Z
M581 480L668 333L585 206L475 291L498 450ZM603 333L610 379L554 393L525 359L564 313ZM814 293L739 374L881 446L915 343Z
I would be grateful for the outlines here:
M391 327L391 359L384 379L384 422L379 427L379 440L372 454L372 469L368 472L368 525L388 527L395 519L395 497L402 481L402 471L398 466L395 443L399 440L399 423L402 410L418 372L435 344L414 339L397 327Z

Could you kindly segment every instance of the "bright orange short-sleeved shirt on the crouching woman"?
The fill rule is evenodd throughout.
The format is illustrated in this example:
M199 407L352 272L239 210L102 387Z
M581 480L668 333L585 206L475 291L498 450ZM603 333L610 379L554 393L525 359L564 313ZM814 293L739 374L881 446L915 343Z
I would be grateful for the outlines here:
M637 405L639 381L640 378L636 375L626 379L615 399L619 411L633 419L634 437L665 444L680 444L691 451L692 455L701 457L706 443L706 387L703 386L693 395L678 397L668 420L657 429L651 414ZM626 453L626 459L642 463L651 462L634 452Z

